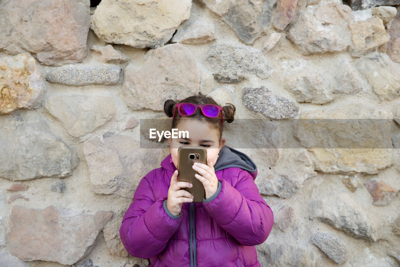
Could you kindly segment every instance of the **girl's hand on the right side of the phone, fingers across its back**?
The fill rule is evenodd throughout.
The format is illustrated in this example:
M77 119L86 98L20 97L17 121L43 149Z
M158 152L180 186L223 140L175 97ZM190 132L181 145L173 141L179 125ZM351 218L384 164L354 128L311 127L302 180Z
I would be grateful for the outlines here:
M193 170L196 170L199 174L194 176L202 182L204 190L206 191L206 198L209 198L218 189L218 179L214 172L214 166L212 165L211 158L207 157L207 165L200 162L194 162Z

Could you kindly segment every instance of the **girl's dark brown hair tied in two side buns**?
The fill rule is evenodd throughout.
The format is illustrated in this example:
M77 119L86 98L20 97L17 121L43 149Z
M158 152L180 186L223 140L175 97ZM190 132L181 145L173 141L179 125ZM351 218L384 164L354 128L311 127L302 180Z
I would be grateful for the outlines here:
M181 101L174 101L172 99L168 99L167 101L164 102L164 112L168 117L174 116L175 105L178 103L192 103L197 105L206 105L206 104L218 105L215 102L215 100L212 99L212 97L206 97L205 95L201 95L200 93L198 95L185 98ZM236 107L231 103L226 103L226 106L222 107L222 111L224 112L223 115L224 121L231 123L234 120ZM182 116L179 115L178 112L175 113L175 118L172 121L172 128L176 128L176 125L178 125L179 119L181 117ZM209 118L204 116L200 109L197 109L196 112L190 117L201 121L207 121L213 129L218 129L218 131L220 132L220 139L221 139L222 129L223 129L221 121L221 112L218 115L218 117Z

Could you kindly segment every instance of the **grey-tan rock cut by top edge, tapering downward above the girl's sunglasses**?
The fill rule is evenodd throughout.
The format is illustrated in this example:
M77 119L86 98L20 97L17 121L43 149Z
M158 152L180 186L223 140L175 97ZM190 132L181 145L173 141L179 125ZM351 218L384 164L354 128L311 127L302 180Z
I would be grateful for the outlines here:
M239 38L246 44L254 40L270 28L271 10L276 0L200 0L220 15Z

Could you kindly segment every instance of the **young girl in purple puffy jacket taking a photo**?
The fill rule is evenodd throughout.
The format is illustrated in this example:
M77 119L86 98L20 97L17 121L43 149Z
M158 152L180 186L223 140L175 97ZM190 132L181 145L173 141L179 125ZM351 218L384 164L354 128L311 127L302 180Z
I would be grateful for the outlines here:
M154 267L260 266L254 245L267 239L274 216L254 183L254 162L224 146L223 121L234 120L234 105L198 95L167 100L164 111L189 138L169 138L171 154L140 181L120 228L126 250ZM192 184L177 182L180 146L207 149L207 165L193 165L203 202L181 189Z

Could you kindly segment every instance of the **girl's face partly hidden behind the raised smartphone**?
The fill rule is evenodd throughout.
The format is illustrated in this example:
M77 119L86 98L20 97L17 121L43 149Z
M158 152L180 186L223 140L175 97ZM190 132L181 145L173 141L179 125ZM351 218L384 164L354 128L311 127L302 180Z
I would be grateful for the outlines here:
M172 162L178 166L178 148L180 146L202 146L207 150L207 157L211 158L212 166L215 165L218 153L225 144L225 138L220 140L218 129L212 129L207 121L198 119L180 118L178 131L188 131L189 138L168 138L171 147Z

